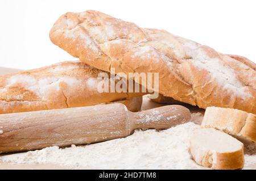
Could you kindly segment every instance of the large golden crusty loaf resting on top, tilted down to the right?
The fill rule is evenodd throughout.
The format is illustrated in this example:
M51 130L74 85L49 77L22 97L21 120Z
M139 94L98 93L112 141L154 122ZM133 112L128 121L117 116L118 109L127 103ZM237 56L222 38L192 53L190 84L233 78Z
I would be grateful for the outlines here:
M95 68L159 73L159 93L180 102L256 113L255 70L194 41L98 11L64 14L49 36Z

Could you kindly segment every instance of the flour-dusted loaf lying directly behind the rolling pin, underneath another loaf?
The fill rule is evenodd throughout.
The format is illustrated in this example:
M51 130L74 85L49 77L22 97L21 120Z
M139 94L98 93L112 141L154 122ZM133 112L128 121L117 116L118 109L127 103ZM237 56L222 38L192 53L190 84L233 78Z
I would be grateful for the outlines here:
M121 99L125 99L122 103L131 111L139 111L142 97L132 98L146 93L100 93L97 91L99 73L104 71L80 61L67 61L0 75L0 113L92 106Z

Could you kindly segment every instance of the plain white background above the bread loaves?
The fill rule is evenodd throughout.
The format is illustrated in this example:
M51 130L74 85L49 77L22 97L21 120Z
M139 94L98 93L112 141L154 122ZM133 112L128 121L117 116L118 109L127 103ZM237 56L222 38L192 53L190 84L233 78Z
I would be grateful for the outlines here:
M256 1L1 0L0 66L32 69L76 60L48 32L68 11L98 10L141 27L164 29L256 61Z

